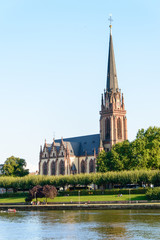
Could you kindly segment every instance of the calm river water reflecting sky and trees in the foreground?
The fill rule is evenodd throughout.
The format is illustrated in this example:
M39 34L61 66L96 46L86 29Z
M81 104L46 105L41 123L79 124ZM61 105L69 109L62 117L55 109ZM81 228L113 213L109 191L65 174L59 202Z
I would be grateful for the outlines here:
M160 239L160 210L0 212L0 240Z

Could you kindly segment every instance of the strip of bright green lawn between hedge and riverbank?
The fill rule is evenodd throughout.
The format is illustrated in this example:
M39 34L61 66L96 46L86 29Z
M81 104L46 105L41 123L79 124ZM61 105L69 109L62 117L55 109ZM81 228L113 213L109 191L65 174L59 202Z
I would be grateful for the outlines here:
M39 198L38 201L43 202L45 198ZM131 194L122 195L92 195L92 196L80 196L81 202L92 202L92 201L139 201L147 200L145 194ZM33 200L35 201L35 199ZM47 199L48 202L79 202L78 196L65 196L65 197L56 197L55 199ZM25 202L24 197L10 197L10 198L0 198L0 203L20 203Z

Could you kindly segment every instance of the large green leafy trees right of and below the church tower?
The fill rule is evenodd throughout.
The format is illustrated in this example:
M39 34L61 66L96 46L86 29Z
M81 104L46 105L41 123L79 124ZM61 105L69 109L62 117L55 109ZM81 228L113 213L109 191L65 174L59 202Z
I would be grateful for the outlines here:
M160 128L141 129L134 141L117 143L97 158L98 172L135 169L160 169Z

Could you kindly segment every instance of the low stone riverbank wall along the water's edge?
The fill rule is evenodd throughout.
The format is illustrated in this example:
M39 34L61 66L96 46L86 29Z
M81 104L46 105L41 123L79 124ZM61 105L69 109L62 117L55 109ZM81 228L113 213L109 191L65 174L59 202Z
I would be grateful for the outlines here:
M160 202L150 203L90 203L90 204L48 204L48 205L0 205L0 211L14 208L17 211L43 211L43 210L112 210L112 209L160 209Z

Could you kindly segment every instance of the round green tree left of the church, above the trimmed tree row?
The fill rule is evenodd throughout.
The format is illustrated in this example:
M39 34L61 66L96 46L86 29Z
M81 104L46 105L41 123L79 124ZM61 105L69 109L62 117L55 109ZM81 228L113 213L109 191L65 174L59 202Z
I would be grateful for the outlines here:
M25 169L26 165L24 159L11 156L5 161L2 171L6 176L23 177L29 174L29 170Z

